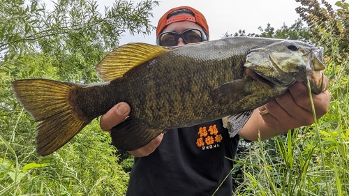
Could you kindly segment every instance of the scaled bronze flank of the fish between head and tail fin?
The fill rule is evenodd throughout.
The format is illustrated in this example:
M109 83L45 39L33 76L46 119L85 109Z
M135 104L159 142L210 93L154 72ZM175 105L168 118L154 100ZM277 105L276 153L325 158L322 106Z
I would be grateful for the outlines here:
M222 42L210 47L204 44L178 48L183 50L156 56L102 88L84 88L86 95L80 97L89 97L90 101L80 102L79 107L94 119L112 105L125 101L138 109L132 110L130 116L149 128L192 126L223 110L224 105L212 103L209 92L220 84L242 78L248 50L265 45L263 40L258 45Z

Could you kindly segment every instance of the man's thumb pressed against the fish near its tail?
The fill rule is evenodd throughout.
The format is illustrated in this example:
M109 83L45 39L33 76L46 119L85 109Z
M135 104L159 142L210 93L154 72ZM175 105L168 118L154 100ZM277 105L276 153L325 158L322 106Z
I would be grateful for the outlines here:
M117 124L124 121L131 111L130 105L121 102L114 105L107 113L103 114L101 121L99 122L101 129L109 131Z

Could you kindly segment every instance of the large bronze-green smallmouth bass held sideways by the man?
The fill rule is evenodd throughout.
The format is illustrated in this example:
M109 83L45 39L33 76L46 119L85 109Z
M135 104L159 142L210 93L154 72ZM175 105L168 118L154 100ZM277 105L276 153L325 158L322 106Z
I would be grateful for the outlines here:
M295 40L225 38L181 47L130 43L96 66L101 84L45 79L13 82L38 121L36 151L53 153L115 104L131 106L112 131L117 149L138 149L170 128L251 112L283 94L295 80L327 89L322 47Z

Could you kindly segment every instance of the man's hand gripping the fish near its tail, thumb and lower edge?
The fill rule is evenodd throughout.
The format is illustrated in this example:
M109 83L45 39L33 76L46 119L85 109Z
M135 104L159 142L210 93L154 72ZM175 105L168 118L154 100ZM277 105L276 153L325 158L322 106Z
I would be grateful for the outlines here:
M114 105L107 113L101 117L100 126L102 130L109 131L117 124L121 123L128 117L131 112L131 107L127 103L121 102ZM163 134L151 140L147 145L140 149L134 151L128 151L131 155L136 157L148 156L150 153L154 152L155 149L160 145L163 140Z

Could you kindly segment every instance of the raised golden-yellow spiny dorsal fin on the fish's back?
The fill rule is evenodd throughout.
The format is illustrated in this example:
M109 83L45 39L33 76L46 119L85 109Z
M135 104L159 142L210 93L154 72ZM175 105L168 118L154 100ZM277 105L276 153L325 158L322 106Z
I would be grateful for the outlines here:
M122 77L128 70L166 52L165 47L147 43L129 43L110 52L98 63L96 71L105 82Z

